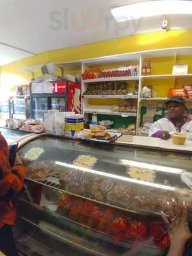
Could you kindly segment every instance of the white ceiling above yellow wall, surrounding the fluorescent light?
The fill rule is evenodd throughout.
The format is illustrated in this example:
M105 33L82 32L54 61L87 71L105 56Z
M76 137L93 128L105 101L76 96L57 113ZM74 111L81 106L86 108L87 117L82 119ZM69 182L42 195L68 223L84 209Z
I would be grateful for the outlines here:
M0 0L0 65L40 52L161 30L163 17L118 27L111 8L134 2L138 1ZM192 15L168 19L172 29L192 28Z

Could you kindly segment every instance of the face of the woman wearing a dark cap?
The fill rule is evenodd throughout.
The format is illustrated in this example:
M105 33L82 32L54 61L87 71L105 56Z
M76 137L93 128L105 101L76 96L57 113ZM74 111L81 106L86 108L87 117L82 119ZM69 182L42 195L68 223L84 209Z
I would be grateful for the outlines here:
M185 108L182 104L179 102L170 102L167 106L168 115L171 119L179 119L184 116Z

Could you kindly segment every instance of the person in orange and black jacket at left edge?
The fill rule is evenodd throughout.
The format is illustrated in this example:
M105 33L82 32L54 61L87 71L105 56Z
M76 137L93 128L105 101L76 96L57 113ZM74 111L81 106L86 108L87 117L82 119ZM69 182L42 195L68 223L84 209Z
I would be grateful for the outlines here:
M10 168L9 147L0 134L0 251L7 256L17 256L12 226L16 219L15 199L22 189L25 169L19 154L15 166Z

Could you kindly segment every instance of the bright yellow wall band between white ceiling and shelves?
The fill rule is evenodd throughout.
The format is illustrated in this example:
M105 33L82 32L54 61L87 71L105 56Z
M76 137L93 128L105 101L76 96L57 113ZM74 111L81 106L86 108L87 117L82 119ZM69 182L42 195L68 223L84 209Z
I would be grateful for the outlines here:
M71 47L68 49L44 52L37 56L2 66L0 71L0 82L3 88L10 88L15 84L26 84L30 81L31 74L23 73L19 70L26 67L42 65L49 61L62 63L111 54L121 54L125 52L145 51L168 47L184 47L191 45L192 30L178 30L134 35L115 40Z

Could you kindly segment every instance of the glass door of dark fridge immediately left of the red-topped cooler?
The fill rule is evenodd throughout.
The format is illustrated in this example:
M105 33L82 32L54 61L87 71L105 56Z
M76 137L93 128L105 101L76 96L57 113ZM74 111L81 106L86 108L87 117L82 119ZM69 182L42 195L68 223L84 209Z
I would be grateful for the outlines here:
M47 113L47 109L47 98L33 98L33 118L44 119L44 114Z

